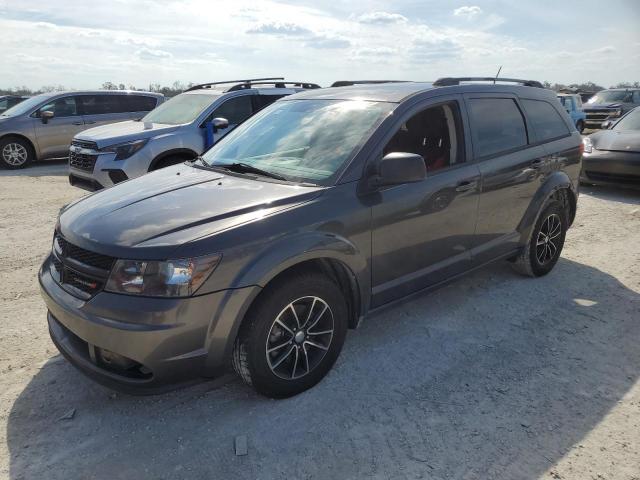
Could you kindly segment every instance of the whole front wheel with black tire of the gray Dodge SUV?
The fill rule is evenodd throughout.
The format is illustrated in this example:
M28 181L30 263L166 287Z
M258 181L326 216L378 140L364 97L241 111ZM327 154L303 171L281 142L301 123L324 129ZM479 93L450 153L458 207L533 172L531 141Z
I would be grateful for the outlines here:
M322 333L328 325L332 333ZM338 286L321 273L292 274L268 285L251 307L236 339L233 367L262 395L297 395L331 370L346 333L347 306Z

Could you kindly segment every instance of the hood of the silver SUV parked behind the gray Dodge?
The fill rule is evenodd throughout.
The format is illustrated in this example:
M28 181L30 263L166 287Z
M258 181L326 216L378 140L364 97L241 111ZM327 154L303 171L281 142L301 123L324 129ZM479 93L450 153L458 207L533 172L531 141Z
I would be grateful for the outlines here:
M103 148L117 143L167 134L178 128L180 128L178 125L127 120L125 122L110 123L108 125L89 128L88 130L78 133L75 138L77 140L95 142L98 148Z

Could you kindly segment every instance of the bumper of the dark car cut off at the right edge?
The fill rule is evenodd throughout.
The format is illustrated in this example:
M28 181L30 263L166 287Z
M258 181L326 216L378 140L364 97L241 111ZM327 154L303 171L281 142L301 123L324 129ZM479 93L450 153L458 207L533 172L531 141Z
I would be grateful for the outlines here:
M640 188L640 152L593 150L582 157L580 181Z

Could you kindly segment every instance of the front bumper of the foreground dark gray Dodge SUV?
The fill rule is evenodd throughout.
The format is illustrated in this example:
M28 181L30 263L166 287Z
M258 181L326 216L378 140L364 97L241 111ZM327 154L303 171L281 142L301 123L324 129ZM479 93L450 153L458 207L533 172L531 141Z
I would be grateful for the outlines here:
M240 321L259 290L179 299L103 291L85 301L55 282L49 262L39 280L56 347L94 380L133 394L159 393L222 374Z

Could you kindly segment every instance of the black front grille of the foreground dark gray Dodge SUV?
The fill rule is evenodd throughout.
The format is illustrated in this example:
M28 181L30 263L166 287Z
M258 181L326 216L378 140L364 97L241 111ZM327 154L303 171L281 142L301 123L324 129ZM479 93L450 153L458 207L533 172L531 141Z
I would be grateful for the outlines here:
M115 259L69 243L56 233L51 273L69 293L91 297L104 288ZM81 296L81 295L77 295Z

